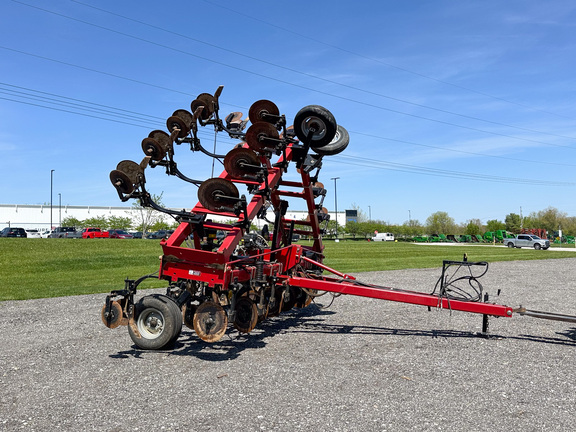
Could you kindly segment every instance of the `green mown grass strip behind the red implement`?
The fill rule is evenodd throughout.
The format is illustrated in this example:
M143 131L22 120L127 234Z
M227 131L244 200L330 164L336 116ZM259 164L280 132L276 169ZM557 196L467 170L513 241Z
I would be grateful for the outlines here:
M309 244L306 241L300 244ZM325 264L344 273L440 268L442 260L513 261L576 258L571 251L491 246L414 245L395 242L326 242ZM0 238L0 301L106 293L158 271L157 240ZM149 280L146 287L166 286Z

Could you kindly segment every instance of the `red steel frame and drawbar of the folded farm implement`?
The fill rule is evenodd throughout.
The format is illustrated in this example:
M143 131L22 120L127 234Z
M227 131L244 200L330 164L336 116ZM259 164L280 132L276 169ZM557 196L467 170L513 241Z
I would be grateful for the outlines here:
M204 229L222 230L226 233L225 238L216 251L205 251L201 249L201 239L196 232L196 225L190 222L182 222L172 236L161 242L164 255L161 258L160 275L162 279L171 282L179 280L193 280L206 283L216 290L225 291L232 282L246 282L254 278L255 268L245 265L246 259L238 258L231 260L232 254L242 240L245 229L242 222L245 218L252 221L266 203L266 187L269 188L268 200L275 210L280 208L282 197L299 198L306 202L309 218L307 221L296 221L282 217L280 228L287 231L292 224L301 228L292 232L311 236L313 245L304 247L301 245L282 244L282 233L276 233L277 244L264 250L260 255L265 262L264 275L273 276L276 279L276 286L294 286L305 290L329 291L339 294L348 294L362 297L377 298L395 302L409 303L421 306L444 308L455 311L478 313L483 315L510 317L512 308L503 305L467 302L459 300L449 300L431 294L424 294L415 291L405 291L388 287L359 284L354 277L340 273L322 264L322 235L318 220L319 208L315 204L315 197L312 190L311 178L306 170L299 170L301 181L283 181L283 166L287 165L294 158L294 149L288 145L276 164L272 165L270 158L261 156L261 162L267 169L266 182L242 180L233 178L226 170L222 172L220 178L230 180L234 183L243 183L257 186L257 193L253 194L247 203L246 216L240 214L236 216L229 212L213 212L200 203L192 209L195 214L220 215L231 219L237 219L238 224L227 225L217 222L205 221ZM280 189L283 188L283 189ZM285 188L298 188L300 191L285 190ZM262 192L259 194L258 192ZM304 229L307 228L307 229ZM193 247L184 245L188 241L190 234L194 233ZM314 252L315 259L310 259L307 252ZM252 255L251 259L257 257ZM328 271L338 278L321 276L302 277L302 272L296 269L320 268Z

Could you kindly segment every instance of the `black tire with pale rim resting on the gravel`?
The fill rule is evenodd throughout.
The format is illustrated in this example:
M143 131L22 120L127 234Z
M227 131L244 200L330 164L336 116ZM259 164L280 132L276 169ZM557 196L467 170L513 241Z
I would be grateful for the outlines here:
M128 325L132 341L142 349L160 350L171 347L182 331L182 312L170 297L153 294L142 297L135 305L138 333Z

